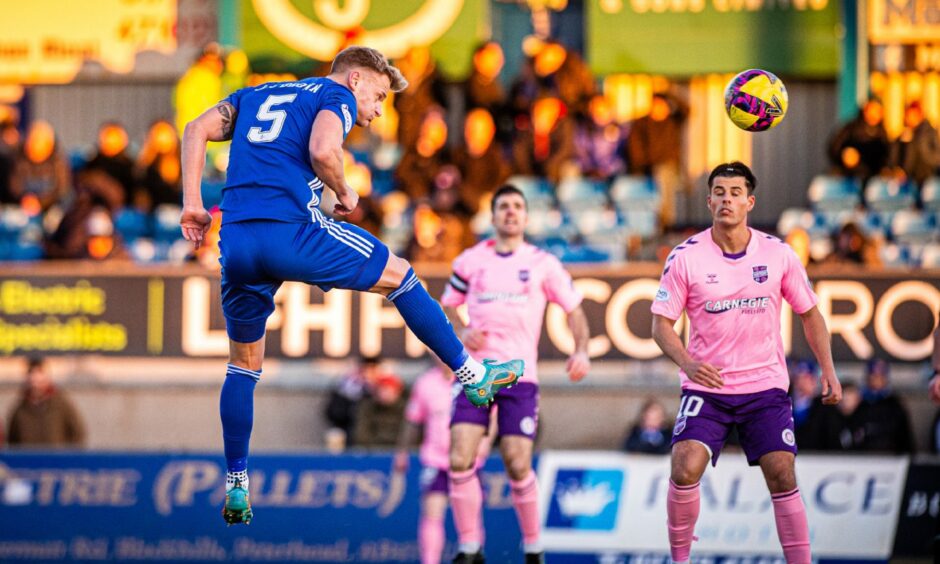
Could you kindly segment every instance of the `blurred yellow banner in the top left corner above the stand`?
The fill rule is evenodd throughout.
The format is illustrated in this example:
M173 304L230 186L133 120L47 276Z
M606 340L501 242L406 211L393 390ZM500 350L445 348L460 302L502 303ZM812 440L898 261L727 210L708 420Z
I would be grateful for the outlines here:
M176 0L4 2L0 82L65 83L85 61L126 73L139 51L176 49Z

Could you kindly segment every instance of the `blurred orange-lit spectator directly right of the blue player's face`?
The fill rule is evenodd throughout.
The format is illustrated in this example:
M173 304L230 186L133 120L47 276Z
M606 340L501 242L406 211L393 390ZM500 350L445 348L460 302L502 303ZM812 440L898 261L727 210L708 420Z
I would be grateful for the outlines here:
M395 94L398 143L407 153L416 147L431 108L444 106L444 86L437 65L431 59L431 50L426 46L412 47L395 64L408 79L408 88Z

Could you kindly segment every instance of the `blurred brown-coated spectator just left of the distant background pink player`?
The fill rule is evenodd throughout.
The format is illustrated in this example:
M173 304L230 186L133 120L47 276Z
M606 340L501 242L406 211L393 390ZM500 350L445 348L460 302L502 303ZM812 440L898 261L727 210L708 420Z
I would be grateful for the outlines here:
M405 416L404 391L405 385L398 376L379 376L372 393L362 398L356 410L356 446L391 448L398 444Z

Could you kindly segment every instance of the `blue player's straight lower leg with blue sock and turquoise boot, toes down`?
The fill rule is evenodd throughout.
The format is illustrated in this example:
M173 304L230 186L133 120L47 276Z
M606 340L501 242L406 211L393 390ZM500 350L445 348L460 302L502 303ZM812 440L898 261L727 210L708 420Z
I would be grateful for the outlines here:
M219 399L222 439L225 444L225 506L222 518L229 525L251 522L248 498L248 442L254 418L255 384L261 371L228 365Z

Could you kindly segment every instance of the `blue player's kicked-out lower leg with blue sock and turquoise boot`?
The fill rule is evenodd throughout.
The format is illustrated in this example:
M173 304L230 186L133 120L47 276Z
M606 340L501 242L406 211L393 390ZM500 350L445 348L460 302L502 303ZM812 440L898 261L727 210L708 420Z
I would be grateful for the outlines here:
M512 386L522 377L525 363L521 360L503 363L484 360L483 364L474 360L454 334L440 304L424 289L413 269L408 268L401 285L388 294L388 299L398 308L415 336L454 371L473 405L489 404L496 392Z

